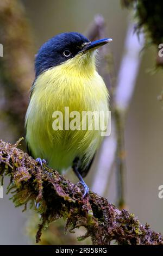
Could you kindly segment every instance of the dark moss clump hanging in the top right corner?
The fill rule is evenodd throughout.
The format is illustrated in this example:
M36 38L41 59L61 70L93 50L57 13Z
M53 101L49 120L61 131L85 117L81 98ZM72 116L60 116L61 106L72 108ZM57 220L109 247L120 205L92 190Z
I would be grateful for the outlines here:
M136 30L146 35L147 45L154 44L158 49L163 42L163 1L121 0L124 7L134 9ZM163 58L156 58L157 66L163 66Z

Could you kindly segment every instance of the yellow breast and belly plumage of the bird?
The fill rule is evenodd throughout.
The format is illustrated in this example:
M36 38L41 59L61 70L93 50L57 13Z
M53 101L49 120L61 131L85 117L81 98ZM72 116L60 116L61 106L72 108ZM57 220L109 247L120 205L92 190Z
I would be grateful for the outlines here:
M53 112L64 113L65 107L80 113L108 111L108 91L95 61L84 58L74 57L37 77L26 114L26 140L32 155L46 159L49 167L59 171L70 168L77 156L84 157L83 166L87 164L102 141L98 130L52 128Z

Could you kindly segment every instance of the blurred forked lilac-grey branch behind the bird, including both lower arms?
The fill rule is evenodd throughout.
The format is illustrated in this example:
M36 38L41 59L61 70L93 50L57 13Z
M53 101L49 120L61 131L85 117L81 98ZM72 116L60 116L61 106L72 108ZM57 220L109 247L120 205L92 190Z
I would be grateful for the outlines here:
M124 173L126 170L126 152L124 147L124 126L136 86L136 77L141 63L140 52L144 41L143 34L140 34L138 38L137 34L134 34L133 31L134 23L129 21L117 82L114 90L111 90L111 135L105 137L102 144L97 174L94 177L92 186L93 190L103 195L111 170L116 167L117 205L121 209L125 205ZM111 86L110 88L113 87Z

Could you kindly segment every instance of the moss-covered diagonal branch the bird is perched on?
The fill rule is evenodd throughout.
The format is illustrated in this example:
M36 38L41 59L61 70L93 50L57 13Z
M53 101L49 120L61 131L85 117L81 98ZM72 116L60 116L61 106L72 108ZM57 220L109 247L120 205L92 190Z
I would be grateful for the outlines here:
M84 226L95 245L108 245L116 241L119 245L163 245L163 236L142 225L134 214L118 210L108 201L90 192L82 200L80 185L61 176L57 171L43 168L27 153L13 144L0 141L0 176L10 176L8 193L12 193L15 206L30 203L41 215L42 223L36 234L40 241L41 231L49 223L63 217L66 230ZM38 204L39 203L39 204ZM39 206L38 206L39 205Z

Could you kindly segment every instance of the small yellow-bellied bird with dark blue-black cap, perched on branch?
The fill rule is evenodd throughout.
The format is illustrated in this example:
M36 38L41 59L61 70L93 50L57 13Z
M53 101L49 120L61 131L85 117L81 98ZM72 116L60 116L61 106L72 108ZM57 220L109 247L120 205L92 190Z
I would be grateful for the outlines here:
M101 130L88 126L80 129L82 120L77 129L53 129L53 113L61 112L64 124L65 107L80 114L103 111L105 118L109 93L96 70L96 53L110 41L91 42L77 32L61 33L45 42L35 58L35 80L25 122L28 153L41 166L47 163L60 173L72 168L83 185L83 198L89 193L83 178L102 142ZM60 127L62 122L58 123Z

